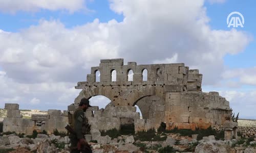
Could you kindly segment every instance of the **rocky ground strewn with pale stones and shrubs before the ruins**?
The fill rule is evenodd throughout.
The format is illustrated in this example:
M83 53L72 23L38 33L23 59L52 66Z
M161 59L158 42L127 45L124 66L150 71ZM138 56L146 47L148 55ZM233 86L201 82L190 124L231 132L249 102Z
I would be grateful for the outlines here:
M128 152L256 152L256 135L249 139L239 138L231 141L216 140L214 135L203 137L197 140L197 135L180 136L180 134L156 134L163 141L142 141L136 136L118 136L111 137L101 136L99 131L93 131L92 138L98 141L91 141L94 153L128 153ZM137 140L136 140L137 139ZM68 136L60 137L55 135L37 134L36 137L9 134L0 137L0 152L69 152Z

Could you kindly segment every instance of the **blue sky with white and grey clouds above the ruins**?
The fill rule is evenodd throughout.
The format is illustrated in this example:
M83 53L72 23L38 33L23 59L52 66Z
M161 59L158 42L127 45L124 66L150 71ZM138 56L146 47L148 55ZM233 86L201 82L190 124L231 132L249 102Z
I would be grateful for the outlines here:
M255 1L0 0L0 108L60 109L100 59L185 63L240 118L256 119ZM244 17L227 25L231 12ZM240 16L234 14L234 19ZM230 17L230 18L231 18ZM109 103L93 97L100 108Z

